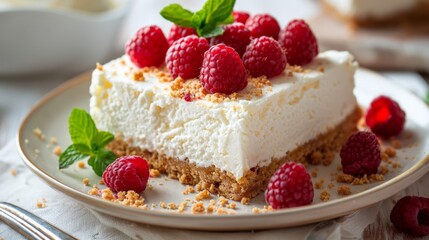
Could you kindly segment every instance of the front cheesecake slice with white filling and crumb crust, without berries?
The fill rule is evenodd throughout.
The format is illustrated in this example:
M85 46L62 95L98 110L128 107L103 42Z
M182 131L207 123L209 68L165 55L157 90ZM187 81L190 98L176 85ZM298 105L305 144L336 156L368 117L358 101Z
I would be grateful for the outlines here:
M141 155L181 183L230 199L252 198L287 161L332 161L361 116L356 68L350 53L326 51L226 95L124 55L94 70L90 114L116 134L116 155Z

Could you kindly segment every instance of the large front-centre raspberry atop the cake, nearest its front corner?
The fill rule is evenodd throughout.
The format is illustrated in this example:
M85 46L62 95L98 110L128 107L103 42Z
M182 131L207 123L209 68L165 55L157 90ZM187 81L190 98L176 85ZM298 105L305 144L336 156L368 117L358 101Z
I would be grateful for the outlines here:
M247 74L238 53L225 44L204 53L200 81L210 93L231 94L247 86Z

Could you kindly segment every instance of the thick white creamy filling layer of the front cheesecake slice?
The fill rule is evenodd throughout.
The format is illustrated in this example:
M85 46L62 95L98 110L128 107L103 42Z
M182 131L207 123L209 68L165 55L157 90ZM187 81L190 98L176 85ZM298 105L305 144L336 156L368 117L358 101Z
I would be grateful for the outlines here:
M321 53L305 71L272 78L251 100L186 102L154 74L132 80L133 68L123 56L93 72L90 113L97 127L237 179L334 128L357 105L357 63L348 52Z

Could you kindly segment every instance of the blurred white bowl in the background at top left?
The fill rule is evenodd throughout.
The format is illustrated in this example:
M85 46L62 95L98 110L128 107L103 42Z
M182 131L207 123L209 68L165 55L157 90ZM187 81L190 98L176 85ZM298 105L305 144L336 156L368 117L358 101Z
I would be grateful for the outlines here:
M76 73L109 60L131 1L100 13L0 9L0 75Z

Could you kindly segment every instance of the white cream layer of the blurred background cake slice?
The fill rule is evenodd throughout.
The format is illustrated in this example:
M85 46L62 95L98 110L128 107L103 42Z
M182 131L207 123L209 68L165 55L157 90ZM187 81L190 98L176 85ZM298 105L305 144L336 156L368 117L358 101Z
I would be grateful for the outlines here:
M363 19L390 17L428 0L325 0L342 15Z

